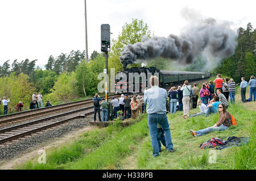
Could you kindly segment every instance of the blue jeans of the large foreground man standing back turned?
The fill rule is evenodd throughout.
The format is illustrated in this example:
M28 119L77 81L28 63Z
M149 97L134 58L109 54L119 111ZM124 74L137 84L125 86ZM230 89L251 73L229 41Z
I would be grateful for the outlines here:
M159 155L159 145L158 145L158 128L157 124L159 123L164 131L164 138L166 139L166 149L171 151L173 149L171 131L169 128L169 123L167 120L166 113L157 114L157 113L149 113L147 115L148 119L148 129L150 132L150 141L153 148L154 157Z

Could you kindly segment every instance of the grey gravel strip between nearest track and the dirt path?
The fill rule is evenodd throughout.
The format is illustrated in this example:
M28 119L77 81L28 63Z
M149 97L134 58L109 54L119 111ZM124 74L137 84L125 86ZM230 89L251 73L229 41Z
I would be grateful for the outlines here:
M27 137L26 140L20 140L19 142L13 142L13 144L5 144L4 147L0 147L0 161L4 159L10 159L16 155L23 153L27 149L32 149L36 145L42 142L53 140L54 138L64 136L64 134L73 131L74 129L83 128L89 125L89 118L80 118L68 121L67 125L52 129L41 134L37 134L32 137Z

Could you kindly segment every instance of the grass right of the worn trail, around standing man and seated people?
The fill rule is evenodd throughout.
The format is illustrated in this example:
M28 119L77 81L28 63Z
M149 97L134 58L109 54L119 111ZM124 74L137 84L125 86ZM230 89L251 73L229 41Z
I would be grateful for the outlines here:
M190 111L191 113L197 110ZM172 142L176 152L168 153L165 148L160 157L152 157L150 138L143 142L137 153L137 168L134 169L255 169L255 111L248 111L240 104L232 104L228 111L237 120L237 127L226 131L211 132L204 136L192 137L189 129L199 130L214 125L218 114L209 117L197 116L183 119L182 113L168 115ZM229 136L250 137L248 144L241 147L230 147L222 150L201 150L200 144L212 137L226 140ZM215 150L217 162L209 163L209 151Z

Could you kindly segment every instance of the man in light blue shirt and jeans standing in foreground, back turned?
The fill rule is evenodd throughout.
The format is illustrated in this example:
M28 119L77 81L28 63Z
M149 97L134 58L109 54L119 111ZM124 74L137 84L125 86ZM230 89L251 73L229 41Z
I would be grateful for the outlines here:
M168 119L166 116L166 100L167 91L158 87L158 77L152 76L150 78L151 89L144 92L144 103L147 104L148 113L148 128L150 132L150 140L153 148L154 157L159 156L159 145L157 140L157 124L159 123L164 131L164 137L166 139L166 149L170 152L174 152L171 131L169 128Z

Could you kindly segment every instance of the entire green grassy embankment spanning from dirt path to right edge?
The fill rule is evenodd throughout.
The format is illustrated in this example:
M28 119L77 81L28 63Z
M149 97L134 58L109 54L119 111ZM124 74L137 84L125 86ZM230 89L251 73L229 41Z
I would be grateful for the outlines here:
M197 116L183 119L183 112L168 114L172 142L175 153L165 148L160 157L152 157L152 147L148 134L147 117L128 128L111 126L81 134L69 145L57 150L47 150L46 164L37 163L35 158L19 169L255 169L255 117L256 104L238 103L240 89L237 90L236 104L228 111L236 117L237 127L226 131L212 132L200 137L192 137L189 129L203 129L212 126L218 115ZM248 92L247 92L247 95ZM199 112L199 108L191 110ZM217 162L209 163L209 151L201 150L200 144L212 137L226 140L229 136L246 136L251 141L241 147L216 150Z

